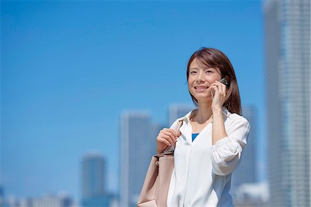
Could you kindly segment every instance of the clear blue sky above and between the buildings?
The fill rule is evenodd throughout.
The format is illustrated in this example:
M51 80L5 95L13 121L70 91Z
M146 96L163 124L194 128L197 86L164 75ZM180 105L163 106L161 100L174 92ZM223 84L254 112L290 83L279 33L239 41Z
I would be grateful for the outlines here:
M170 103L191 103L186 66L201 46L225 52L242 104L258 109L264 166L261 1L1 1L6 194L78 198L80 162L93 150L116 191L120 112L149 110L166 123Z

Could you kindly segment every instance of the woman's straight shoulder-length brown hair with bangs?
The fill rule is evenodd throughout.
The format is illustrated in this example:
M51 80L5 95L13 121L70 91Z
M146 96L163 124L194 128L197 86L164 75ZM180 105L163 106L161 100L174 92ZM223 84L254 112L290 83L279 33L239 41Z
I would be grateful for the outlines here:
M221 77L229 77L227 80L229 83L229 87L227 90L227 95L225 99L225 103L223 106L229 110L229 112L236 113L238 115L242 114L241 110L241 99L240 93L238 92L238 82L236 81L236 75L234 72L234 68L232 67L231 62L228 57L215 48L205 48L202 47L199 50L196 50L193 55L191 55L188 66L187 66L187 82L189 79L189 67L194 59L198 60L198 63L202 63L204 66L209 68L218 68L220 70ZM191 95L190 91L189 94ZM196 108L198 108L198 100L191 95L192 102Z

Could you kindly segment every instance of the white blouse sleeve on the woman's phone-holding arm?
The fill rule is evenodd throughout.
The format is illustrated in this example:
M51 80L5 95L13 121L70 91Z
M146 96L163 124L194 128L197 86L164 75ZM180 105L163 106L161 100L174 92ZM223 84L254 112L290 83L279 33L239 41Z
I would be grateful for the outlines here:
M249 122L241 117L229 126L228 136L211 147L211 162L216 175L229 175L238 166L247 144L249 129Z

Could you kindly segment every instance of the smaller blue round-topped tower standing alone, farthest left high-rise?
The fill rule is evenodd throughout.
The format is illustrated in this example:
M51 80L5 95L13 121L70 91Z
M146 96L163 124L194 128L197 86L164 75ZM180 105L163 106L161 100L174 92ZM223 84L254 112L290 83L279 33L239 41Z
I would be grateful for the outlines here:
M106 162L102 155L89 153L82 159L82 206L109 206L106 195Z

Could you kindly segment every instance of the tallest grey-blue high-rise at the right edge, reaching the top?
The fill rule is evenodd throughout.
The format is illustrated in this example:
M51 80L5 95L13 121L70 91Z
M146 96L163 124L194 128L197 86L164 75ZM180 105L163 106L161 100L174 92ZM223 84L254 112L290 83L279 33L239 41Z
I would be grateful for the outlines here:
M310 0L264 3L270 205L310 203Z

